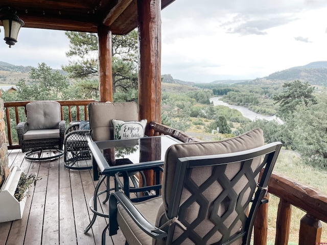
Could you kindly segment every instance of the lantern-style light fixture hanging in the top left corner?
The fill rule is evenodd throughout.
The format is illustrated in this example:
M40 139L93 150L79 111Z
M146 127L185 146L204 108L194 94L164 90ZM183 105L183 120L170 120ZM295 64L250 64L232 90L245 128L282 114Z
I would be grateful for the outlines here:
M11 47L17 42L19 29L24 27L25 23L16 15L16 10L11 7L0 8L1 12L4 12L4 15L0 17L5 30L4 40Z

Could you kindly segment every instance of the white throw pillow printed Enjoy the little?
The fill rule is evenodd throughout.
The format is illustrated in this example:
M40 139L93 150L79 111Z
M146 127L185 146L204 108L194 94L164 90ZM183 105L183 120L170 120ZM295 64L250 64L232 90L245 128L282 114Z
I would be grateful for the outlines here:
M141 121L122 121L112 119L113 139L134 139L144 137L147 119Z

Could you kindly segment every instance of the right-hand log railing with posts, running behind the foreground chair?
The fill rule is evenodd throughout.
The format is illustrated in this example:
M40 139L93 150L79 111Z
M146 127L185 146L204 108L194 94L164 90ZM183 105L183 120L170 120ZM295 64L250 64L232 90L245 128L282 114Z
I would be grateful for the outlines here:
M168 134L182 142L199 141L185 133L156 122L150 122L155 135ZM327 193L312 186L292 180L282 174L273 172L270 177L269 193L279 197L276 219L276 245L287 245L290 233L292 206L306 212L299 220L299 245L322 244L321 221L327 223ZM269 198L269 193L267 198ZM255 245L266 245L268 236L268 205L263 204L255 217L253 227ZM321 220L321 221L320 221Z

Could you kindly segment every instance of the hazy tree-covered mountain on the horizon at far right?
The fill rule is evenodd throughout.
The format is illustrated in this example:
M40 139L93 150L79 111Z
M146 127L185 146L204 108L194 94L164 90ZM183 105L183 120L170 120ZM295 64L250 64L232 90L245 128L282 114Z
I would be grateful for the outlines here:
M311 85L327 86L327 61L311 62L303 66L295 66L277 71L259 81L295 81L309 82Z

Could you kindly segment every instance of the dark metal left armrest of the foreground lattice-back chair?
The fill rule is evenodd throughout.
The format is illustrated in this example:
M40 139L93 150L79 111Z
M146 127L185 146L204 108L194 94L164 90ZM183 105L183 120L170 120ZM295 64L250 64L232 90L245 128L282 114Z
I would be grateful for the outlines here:
M134 220L135 224L149 236L154 239L167 237L167 233L153 226L148 220L135 208L133 203L126 197L122 191L116 191L110 194L109 198L109 235L117 234L117 205L120 203L128 215Z

